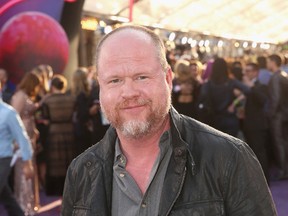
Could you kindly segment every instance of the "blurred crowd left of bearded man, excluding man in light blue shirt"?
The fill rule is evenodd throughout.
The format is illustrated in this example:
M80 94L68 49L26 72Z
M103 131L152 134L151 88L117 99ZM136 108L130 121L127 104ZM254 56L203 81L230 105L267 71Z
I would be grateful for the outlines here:
M77 155L97 143L109 127L99 103L93 68L77 69L70 83L49 65L27 72L14 86L0 69L3 101L19 114L33 146L34 177L26 178L19 146L10 184L25 215L40 205L39 190L61 196L67 168Z

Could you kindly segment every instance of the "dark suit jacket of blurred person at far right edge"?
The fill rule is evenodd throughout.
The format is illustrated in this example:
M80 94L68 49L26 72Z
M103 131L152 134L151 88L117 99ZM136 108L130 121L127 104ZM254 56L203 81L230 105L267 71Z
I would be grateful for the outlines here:
M288 75L284 71L274 73L268 84L269 116L282 115L288 120Z

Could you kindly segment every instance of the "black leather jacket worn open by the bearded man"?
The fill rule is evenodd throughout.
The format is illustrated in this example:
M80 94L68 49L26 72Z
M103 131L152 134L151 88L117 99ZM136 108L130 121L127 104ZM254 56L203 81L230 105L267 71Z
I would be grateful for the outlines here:
M158 215L276 215L260 165L245 143L174 108L170 116L173 153ZM71 163L62 215L111 215L116 136L110 128Z

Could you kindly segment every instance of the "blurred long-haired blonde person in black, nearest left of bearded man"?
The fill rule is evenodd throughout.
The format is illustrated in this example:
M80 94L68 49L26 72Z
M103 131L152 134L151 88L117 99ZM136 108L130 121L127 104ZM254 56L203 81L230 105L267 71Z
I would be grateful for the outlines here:
M76 133L77 155L91 146L92 123L89 114L90 88L87 69L77 69L72 78L71 93L76 98L73 122Z

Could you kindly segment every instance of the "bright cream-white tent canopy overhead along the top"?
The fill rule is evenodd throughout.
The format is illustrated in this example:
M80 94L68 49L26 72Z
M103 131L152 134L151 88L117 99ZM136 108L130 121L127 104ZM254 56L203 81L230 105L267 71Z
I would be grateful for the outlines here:
M134 2L133 23L136 24L228 39L274 44L288 41L288 0ZM84 11L128 22L129 0L86 0Z

